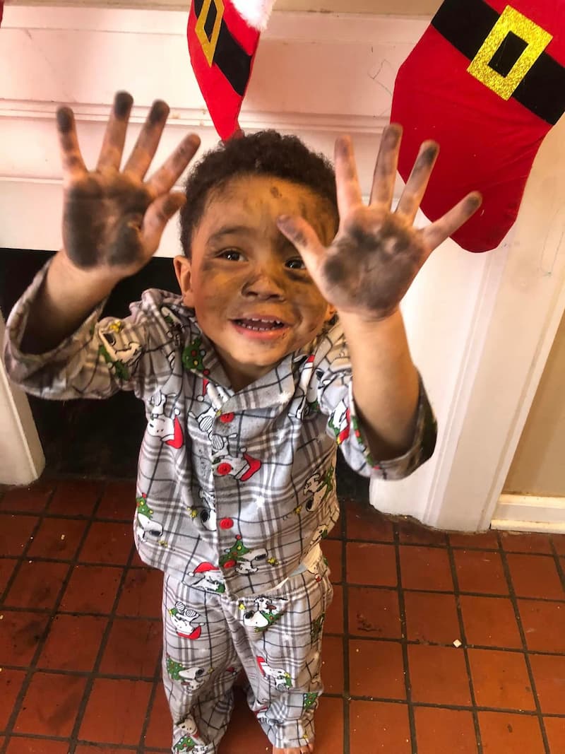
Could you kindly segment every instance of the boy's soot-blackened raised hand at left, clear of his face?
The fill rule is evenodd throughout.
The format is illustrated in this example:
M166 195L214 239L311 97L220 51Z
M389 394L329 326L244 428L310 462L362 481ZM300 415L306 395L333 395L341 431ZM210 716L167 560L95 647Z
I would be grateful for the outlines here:
M63 159L63 251L72 265L106 277L127 277L157 250L166 223L185 197L173 186L200 145L188 134L170 158L144 182L169 115L166 103L151 106L130 158L120 170L133 99L118 92L95 170L87 170L72 110L57 111Z

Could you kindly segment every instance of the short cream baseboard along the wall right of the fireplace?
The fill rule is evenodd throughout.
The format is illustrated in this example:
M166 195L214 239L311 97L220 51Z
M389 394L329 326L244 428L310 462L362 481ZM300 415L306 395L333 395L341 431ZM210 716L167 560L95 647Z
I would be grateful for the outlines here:
M565 534L565 497L500 495L491 529Z

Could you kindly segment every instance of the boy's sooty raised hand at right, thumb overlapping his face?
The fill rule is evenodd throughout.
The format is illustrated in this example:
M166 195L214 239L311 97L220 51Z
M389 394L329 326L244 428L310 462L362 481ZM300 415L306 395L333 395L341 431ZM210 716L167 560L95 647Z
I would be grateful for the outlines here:
M335 143L335 176L340 224L329 247L301 217L278 220L280 231L295 244L322 296L337 311L367 320L388 317L398 307L432 250L481 205L472 192L426 228L414 228L420 201L438 155L435 142L424 142L399 204L391 211L402 127L383 132L374 169L371 199L362 202L353 146L348 136Z

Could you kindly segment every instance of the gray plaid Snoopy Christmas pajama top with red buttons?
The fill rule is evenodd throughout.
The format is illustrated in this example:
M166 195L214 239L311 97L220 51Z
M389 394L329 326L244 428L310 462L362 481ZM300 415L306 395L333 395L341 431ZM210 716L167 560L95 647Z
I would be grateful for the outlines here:
M23 354L18 345L46 268L8 319L8 374L43 398L133 390L143 401L136 547L148 565L187 586L252 595L299 570L337 520L338 446L365 477L399 479L432 455L435 419L420 383L411 448L392 460L371 458L339 323L237 393L194 311L162 290L145 291L121 320L99 320L101 304L53 351Z

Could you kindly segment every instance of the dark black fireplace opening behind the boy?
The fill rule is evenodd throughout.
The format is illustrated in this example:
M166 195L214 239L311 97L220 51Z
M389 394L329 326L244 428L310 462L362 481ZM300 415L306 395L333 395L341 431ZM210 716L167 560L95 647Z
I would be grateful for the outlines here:
M0 311L5 319L35 273L53 252L0 250ZM129 304L147 288L179 292L173 260L154 257L141 271L122 280L111 293L103 316L125 317ZM142 403L131 392L108 400L42 400L29 396L49 477L135 479L145 428ZM337 454L337 491L341 497L368 500L368 482Z

